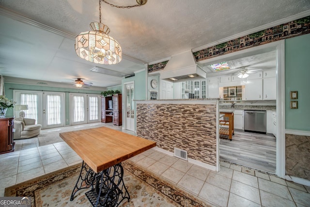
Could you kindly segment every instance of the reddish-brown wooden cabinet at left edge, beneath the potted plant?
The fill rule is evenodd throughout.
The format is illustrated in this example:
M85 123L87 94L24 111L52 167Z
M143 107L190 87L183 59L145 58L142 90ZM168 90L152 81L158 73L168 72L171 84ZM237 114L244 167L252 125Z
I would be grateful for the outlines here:
M14 151L13 120L13 117L0 118L0 154Z

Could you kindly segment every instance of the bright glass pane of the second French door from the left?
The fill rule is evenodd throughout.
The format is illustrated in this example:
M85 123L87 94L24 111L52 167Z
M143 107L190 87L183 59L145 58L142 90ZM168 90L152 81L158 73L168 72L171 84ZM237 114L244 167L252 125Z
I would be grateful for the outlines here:
M61 124L61 96L47 95L47 125Z

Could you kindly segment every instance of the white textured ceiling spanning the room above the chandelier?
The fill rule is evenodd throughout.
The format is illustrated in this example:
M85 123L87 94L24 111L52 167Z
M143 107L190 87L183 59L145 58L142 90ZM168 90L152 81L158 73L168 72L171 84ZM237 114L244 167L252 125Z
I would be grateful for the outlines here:
M135 0L108 1L118 5L136 4ZM99 78L103 80L105 77L98 77L98 74L94 77L96 74L89 72L96 64L78 60L73 50L72 38L80 32L89 31L89 24L99 20L98 0L0 0L0 5L67 34L66 38L63 38L24 25L15 21L16 19L12 21L11 17L0 16L1 28L6 29L6 32L0 32L0 43L4 44L4 47L0 48L2 74L14 77L16 71L11 69L23 65L28 70L44 70L40 77L33 77L38 80L56 81L52 79L55 73L50 71L61 68L59 80L62 81L84 76L93 82L94 86L107 87L121 83L120 78L112 77L108 77L111 81L107 84L99 83ZM148 0L145 5L131 9L115 8L102 2L102 23L109 26L109 35L120 43L123 54L127 57L123 64L103 67L131 74L135 70L143 69L143 63L154 63L185 50L215 43L309 10L309 0ZM34 34L35 39L31 36L33 31L37 32ZM11 32L16 33L12 35ZM7 59L14 55L14 49L6 44L9 42L21 44L18 46L20 48L31 46L27 51L28 56L24 54L25 51L21 51L18 54L20 60L14 64L8 62ZM45 51L44 54L41 51L34 52L42 46L50 51ZM46 61L40 62L35 56L46 58ZM140 63L132 62L128 57L139 60ZM19 61L28 64L18 63ZM69 68L67 72L64 72L63 65ZM88 72L83 72L83 69ZM8 71L14 74L8 74ZM26 75L19 74L20 77L31 79ZM98 81L94 80L95 78Z

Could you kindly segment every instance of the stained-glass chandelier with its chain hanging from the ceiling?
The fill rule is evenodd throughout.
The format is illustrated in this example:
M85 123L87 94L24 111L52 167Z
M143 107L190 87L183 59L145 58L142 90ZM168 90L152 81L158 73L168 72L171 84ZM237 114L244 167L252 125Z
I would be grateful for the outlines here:
M118 64L122 61L122 47L109 36L109 27L101 23L101 1L117 8L131 8L144 5L147 0L137 0L138 4L133 6L117 6L106 0L99 0L99 22L92 22L92 31L81 32L76 37L75 50L78 57L96 64Z

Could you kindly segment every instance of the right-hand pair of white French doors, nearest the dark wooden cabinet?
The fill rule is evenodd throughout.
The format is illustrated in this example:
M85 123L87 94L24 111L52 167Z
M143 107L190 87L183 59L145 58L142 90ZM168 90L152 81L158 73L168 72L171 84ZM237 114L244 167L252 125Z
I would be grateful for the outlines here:
M99 122L100 115L99 95L70 94L71 125Z

